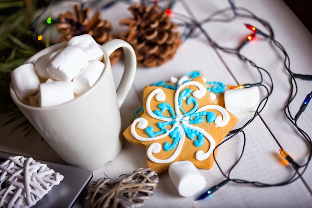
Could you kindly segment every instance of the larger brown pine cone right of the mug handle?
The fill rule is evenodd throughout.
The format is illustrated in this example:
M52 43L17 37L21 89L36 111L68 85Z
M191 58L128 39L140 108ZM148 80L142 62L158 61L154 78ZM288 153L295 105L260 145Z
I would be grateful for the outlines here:
M135 49L138 65L154 67L172 59L180 45L180 34L174 32L177 25L171 22L168 14L156 5L135 4L129 10L134 18L120 20L121 25L129 27L120 38Z

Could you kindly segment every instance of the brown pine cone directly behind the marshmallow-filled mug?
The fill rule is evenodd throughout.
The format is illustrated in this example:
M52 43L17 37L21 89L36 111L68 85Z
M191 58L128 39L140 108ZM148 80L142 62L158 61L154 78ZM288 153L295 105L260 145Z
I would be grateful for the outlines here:
M111 30L111 23L107 20L101 19L102 14L96 11L91 19L88 19L91 9L80 8L79 4L74 5L74 11L66 11L58 16L59 23L56 25L58 32L63 36L60 38L61 42L68 41L72 37L82 34L91 35L94 40L100 45L113 39L113 35L109 34ZM116 63L122 55L122 50L116 50L110 55L111 64Z

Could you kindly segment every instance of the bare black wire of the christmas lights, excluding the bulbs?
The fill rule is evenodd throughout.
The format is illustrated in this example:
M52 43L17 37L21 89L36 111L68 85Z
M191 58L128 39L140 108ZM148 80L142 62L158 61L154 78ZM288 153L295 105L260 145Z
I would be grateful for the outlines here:
M232 10L234 15L230 18L227 18L227 19L216 19L214 18L216 15L218 14L221 14L223 12L226 12L226 11L230 11ZM245 11L247 12L248 14L241 14L240 12L238 11ZM236 19L237 17L242 17L242 18L250 18L250 19L255 19L255 20L258 20L262 25L264 25L270 32L270 35L267 35L265 33L260 33L260 35L264 36L265 38L268 38L269 40L271 40L274 45L279 48L282 53L284 54L285 56L285 59L284 59L284 65L285 65L285 68L286 70L288 71L288 73L290 74L291 76L291 82L290 82L290 85L291 85L291 94L290 94L290 97L287 101L287 104L285 106L285 114L287 116L287 118L295 125L295 127L297 128L297 130L303 135L303 137L308 141L309 145L310 145L310 154L308 156L308 159L307 159L307 162L304 164L304 165L301 165L300 167L303 168L302 172L300 173L299 172L299 169L295 169L295 173L287 180L283 181L283 182L280 182L280 183L275 183L275 184L268 184L268 183L262 183L262 182L257 182L257 181L247 181L247 180L242 180L242 179L231 179L230 178L230 173L232 172L232 170L236 167L236 165L239 163L239 161L241 160L241 158L243 157L243 153L244 153L244 150L245 150L245 145L246 145L246 135L243 131L243 129L245 127L247 127L250 123L252 123L252 121L260 114L260 112L264 109L264 107L266 106L267 104L267 101L268 101L268 98L269 96L272 94L273 92L273 80L272 80L272 77L270 75L270 73L265 70L264 68L262 67L259 67L257 66L252 60L248 59L246 56L243 56L241 53L240 53L240 49L242 47L239 47L239 48L228 48L228 47L223 47L223 46L220 46L218 43L216 43L215 41L212 40L212 38L209 36L208 32L203 28L203 24L204 23L207 23L207 22L230 22L230 21L233 21L234 19ZM274 31L273 31L273 28L271 27L270 23L267 22L266 20L264 19L261 19L259 18L258 16L256 16L254 13L252 13L250 10L244 8L244 7L236 7L236 12L233 10L233 7L230 7L230 8L224 8L224 9L220 9L218 11L215 11L213 14L209 15L207 18L205 18L203 21L200 21L200 22L197 22L196 20L192 19L191 17L189 16L186 16L184 14L180 14L180 13L176 13L174 12L174 17L172 17L174 19L177 19L177 20L181 20L181 19L184 19L184 20L187 20L187 21L184 21L182 24L180 25L184 25L184 26L192 26L193 28L198 28L200 30L200 32L206 37L206 39L208 40L208 42L210 43L210 45L212 45L213 47L215 48L218 48L226 53L229 53L229 54L234 54L234 55L237 55L241 60L243 61L247 61L251 66L257 68L259 74L260 74L260 77L261 77L261 82L257 83L256 85L257 86L262 86L266 89L266 92L267 92L267 95L260 101L259 105L258 105L258 108L257 110L255 111L255 114L254 116L249 120L247 121L241 128L237 129L237 130L233 130L231 131L233 133L232 136L228 137L227 139L223 140L221 143L219 143L214 151L213 151L213 158L215 160L215 163L216 165L218 166L218 169L220 170L221 174L226 178L226 180L228 181L232 181L232 182L235 182L235 183L239 183L239 184L252 184L256 187L276 187L276 186L285 186L285 185L288 185L290 183L293 183L294 181L300 179L302 177L302 175L304 174L304 172L307 170L307 167L308 167L308 164L310 163L311 161L311 158L312 158L312 142L311 142L311 138L310 136L304 131L302 130L300 127L298 127L297 125L297 121L294 121L295 119L291 116L291 112L290 112L290 104L291 102L295 99L297 93L298 93L298 85L297 85L297 82L296 82L296 79L294 77L294 73L290 70L290 58L289 58L289 55L287 53L287 51L285 50L285 48L283 47L283 45L278 42L276 39L275 39L275 35L274 35ZM191 36L188 36L188 37L191 37ZM243 46L243 45L242 45ZM270 89L265 86L264 84L262 84L263 82L263 76L262 76L262 72L265 72L268 76L269 76L269 79L270 79L270 84L271 84L271 87ZM309 75L308 75L309 76ZM294 84L293 84L294 82ZM294 92L295 91L295 92ZM294 94L295 93L295 94ZM294 94L294 95L293 95ZM262 107L260 108L260 106L262 105ZM289 115L287 114L289 113ZM230 134L231 134L230 132ZM222 171L222 168L220 167L220 164L218 163L218 161L216 160L216 155L215 155L215 151L221 146L223 145L224 143L226 143L227 141L229 141L230 139L234 138L237 134L239 133L242 133L243 134L243 147L242 147L242 151L241 151L241 155L239 156L239 158L237 159L237 161L235 162L235 164L229 169L228 171L228 174L225 174L224 171ZM278 145L280 146L280 144L278 143ZM281 147L281 146L280 146ZM222 182L221 182L222 183Z

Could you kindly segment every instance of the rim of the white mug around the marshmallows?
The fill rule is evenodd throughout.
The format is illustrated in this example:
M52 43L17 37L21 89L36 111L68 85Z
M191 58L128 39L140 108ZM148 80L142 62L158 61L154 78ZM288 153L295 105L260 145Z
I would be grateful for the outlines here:
M60 47L62 46L66 46L67 45L67 42L68 41L65 41L65 42L59 42L59 43L56 43L54 45L50 45L49 47L47 48L44 48L40 51L38 51L37 53L35 53L34 55L32 55L30 58L28 58L22 65L24 64L27 64L27 63L33 63L34 60L37 60L39 57L41 57L42 55L45 55L45 54L48 54L48 51L49 50L52 50L50 52L54 52L56 51L57 49L59 49ZM10 82L10 86L9 86L9 91L10 91L10 97L11 99L14 101L14 103L17 105L17 106L22 106L23 108L28 108L28 109L33 109L33 110L52 110L52 109L55 109L55 108L61 108L63 106L66 106L66 105L70 105L72 102L75 102L75 100L79 100L79 99L83 99L82 97L85 97L87 96L87 94L90 94L91 91L93 90L94 86L98 85L100 79L103 78L104 76L104 73L106 72L106 69L107 69L107 66L109 65L111 67L111 61L109 59L109 55L107 54L107 52L104 50L104 48L102 47L102 45L98 44L99 47L101 48L101 50L103 51L103 59L105 60L105 63L103 62L103 59L101 60L101 62L104 63L104 69L101 73L101 75L99 76L98 80L94 83L94 85L88 89L86 92L84 92L83 94L79 95L78 97L72 99L72 100L69 100L65 103L61 103L61 104L58 104L58 105L55 105L55 106L47 106L47 107L40 107L40 106L31 106L31 105L27 105L25 103L23 103L21 100L19 100L19 98L17 97L16 95L16 92L15 92L15 89L14 89L14 86L13 86L13 83L12 81ZM46 53L45 53L46 52ZM41 55L39 55L41 54ZM108 61L107 61L108 59Z

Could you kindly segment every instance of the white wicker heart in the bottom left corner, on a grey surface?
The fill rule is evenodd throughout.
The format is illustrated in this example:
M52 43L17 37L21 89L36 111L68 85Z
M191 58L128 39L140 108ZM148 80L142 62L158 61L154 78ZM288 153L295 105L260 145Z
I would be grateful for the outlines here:
M32 158L9 157L0 164L0 207L31 207L63 178Z

